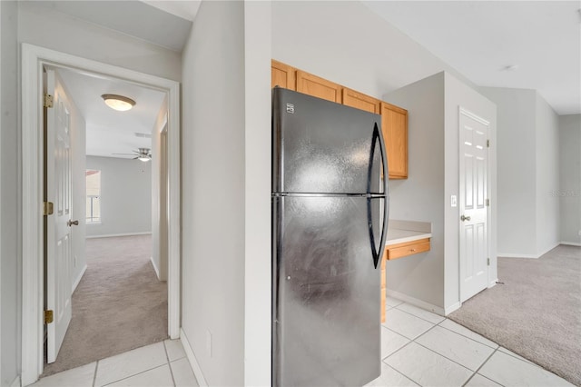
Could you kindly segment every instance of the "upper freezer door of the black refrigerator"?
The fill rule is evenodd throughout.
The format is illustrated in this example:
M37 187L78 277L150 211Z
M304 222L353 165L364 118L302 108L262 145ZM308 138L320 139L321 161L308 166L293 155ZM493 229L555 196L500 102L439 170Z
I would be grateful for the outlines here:
M272 101L273 193L384 192L378 114L281 88Z

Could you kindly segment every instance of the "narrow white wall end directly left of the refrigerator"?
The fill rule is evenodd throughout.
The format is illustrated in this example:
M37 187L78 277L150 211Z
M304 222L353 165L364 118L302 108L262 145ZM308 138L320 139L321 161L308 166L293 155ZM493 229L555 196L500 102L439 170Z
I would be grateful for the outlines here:
M244 385L271 384L271 4L244 3Z

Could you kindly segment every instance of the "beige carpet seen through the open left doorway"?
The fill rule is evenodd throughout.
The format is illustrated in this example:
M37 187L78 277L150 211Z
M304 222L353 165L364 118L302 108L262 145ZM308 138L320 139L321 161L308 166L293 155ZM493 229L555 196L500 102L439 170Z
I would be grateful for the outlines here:
M150 261L151 235L87 239L73 319L43 376L167 338L167 283Z

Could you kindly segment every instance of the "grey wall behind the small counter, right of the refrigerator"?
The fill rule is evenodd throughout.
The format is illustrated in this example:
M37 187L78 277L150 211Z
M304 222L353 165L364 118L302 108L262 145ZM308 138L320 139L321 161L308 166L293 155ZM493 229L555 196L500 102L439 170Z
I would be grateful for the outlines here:
M408 110L407 180L389 180L389 218L432 223L430 251L386 263L389 291L444 307L444 73L386 94Z

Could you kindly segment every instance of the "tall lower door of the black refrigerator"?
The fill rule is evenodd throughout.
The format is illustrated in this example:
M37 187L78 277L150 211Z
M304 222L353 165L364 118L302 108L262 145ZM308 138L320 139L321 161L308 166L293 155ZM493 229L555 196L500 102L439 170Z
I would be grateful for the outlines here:
M372 201L373 213L381 200ZM273 213L272 384L360 386L378 378L380 278L368 199L274 197ZM379 221L372 227L379 235Z

